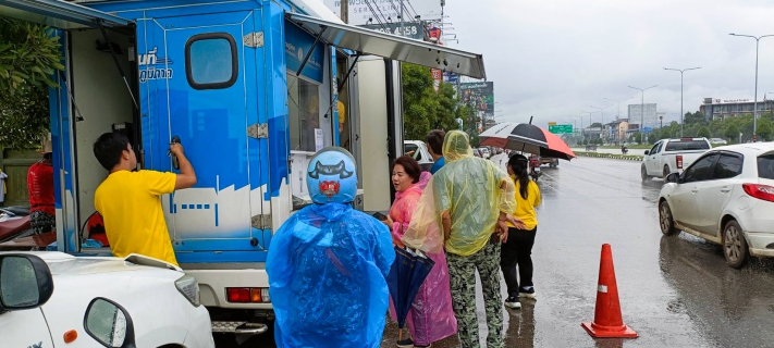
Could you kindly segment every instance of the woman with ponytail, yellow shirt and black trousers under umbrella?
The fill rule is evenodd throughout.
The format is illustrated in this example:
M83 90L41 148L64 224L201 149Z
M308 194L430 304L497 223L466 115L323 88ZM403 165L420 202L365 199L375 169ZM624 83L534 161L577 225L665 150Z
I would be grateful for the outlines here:
M520 309L519 297L535 298L532 284L532 245L538 232L538 216L535 207L540 206L540 188L529 178L529 160L523 154L514 154L508 160L508 174L516 186L516 211L514 217L521 220L524 229L508 223L508 238L503 244L500 254L500 268L503 270L508 298L505 306ZM518 266L518 277L516 274ZM519 281L521 286L519 287Z

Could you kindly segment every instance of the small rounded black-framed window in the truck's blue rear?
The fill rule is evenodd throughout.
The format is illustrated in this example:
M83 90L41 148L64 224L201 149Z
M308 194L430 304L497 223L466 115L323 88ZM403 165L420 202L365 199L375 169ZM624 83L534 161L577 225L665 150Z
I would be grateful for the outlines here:
M185 44L185 75L194 89L229 88L238 69L236 42L229 34L199 34Z

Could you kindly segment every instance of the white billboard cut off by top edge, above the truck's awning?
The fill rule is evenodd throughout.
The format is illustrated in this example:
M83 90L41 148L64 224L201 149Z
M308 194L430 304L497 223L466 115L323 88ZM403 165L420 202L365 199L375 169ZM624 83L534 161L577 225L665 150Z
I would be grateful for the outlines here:
M401 18L401 1L396 0L348 0L349 1L349 25L366 25L393 22L398 23ZM341 0L322 0L322 2L341 17ZM404 1L404 22L416 21L415 15L421 20L441 18L441 0L414 0L408 4Z

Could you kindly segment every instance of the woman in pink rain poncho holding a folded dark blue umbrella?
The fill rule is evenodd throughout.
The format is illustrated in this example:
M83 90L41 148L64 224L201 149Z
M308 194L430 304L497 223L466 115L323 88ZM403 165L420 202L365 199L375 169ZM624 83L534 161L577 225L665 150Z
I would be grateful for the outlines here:
M421 172L419 163L410 157L404 156L393 163L392 184L396 194L385 223L392 232L393 243L400 247L404 247L401 238L408 229L414 211L419 204L419 198L430 178L431 174ZM457 320L452 309L446 257L443 250L438 253L426 252L426 254L435 261L435 265L417 291L406 318L413 339L398 340L397 347L401 348L429 347L433 341L457 333ZM392 300L390 301L390 315L392 320L396 320Z

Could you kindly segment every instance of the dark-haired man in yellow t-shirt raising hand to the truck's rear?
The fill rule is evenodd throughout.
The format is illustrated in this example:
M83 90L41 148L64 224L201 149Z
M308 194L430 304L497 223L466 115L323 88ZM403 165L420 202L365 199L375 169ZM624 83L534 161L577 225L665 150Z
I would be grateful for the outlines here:
M170 151L177 157L180 174L134 171L137 157L119 133L102 134L94 144L94 156L110 172L95 191L94 206L105 221L113 256L139 253L177 265L160 198L196 185L196 173L183 146L172 144Z

